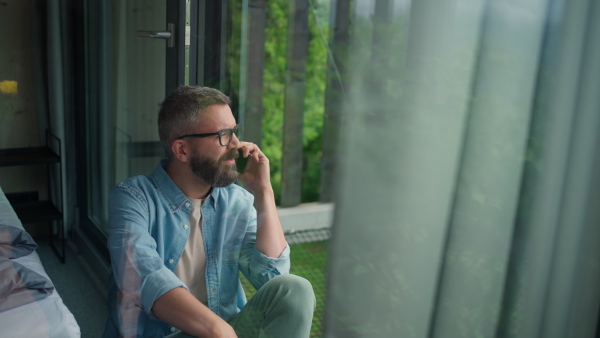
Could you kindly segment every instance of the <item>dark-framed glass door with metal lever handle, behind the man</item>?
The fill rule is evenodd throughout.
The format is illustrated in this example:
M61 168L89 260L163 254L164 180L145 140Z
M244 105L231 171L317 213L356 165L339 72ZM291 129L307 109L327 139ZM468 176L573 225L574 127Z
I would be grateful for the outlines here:
M110 190L153 170L164 151L159 103L179 85L232 95L227 73L229 1L87 0L85 180L81 220L104 249ZM234 99L234 111L237 101Z

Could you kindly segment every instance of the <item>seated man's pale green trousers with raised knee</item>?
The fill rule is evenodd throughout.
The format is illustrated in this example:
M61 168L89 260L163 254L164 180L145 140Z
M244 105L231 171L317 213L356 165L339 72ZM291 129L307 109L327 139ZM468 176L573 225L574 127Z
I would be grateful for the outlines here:
M315 307L315 293L308 280L280 275L263 285L229 324L239 338L306 338ZM168 336L189 337L184 332Z

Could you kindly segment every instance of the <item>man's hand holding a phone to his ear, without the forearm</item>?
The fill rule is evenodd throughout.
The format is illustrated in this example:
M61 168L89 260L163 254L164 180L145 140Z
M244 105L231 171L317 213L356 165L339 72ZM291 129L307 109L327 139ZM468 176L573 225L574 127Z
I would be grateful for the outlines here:
M244 188L253 193L272 190L269 159L254 143L241 142L243 156L248 157L246 171L240 175Z

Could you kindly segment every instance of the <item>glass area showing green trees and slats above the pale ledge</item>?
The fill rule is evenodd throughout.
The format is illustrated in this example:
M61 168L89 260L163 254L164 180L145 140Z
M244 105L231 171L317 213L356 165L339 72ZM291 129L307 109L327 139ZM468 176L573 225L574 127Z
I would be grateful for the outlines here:
M294 3L267 1L262 3L264 7L260 7L252 1L248 4L248 1L235 0L230 2L229 8L231 31L227 41L227 83L231 88L228 95L234 98L234 104L238 104L234 110L239 114L238 122L244 125L244 140L259 144L269 157L271 183L278 204L282 176L285 176L284 115L289 109L302 111L298 118L302 124L299 200L318 201L320 191L330 1L309 2L308 8L303 8L301 18L296 18L306 20L306 26L301 24L290 28L290 20L294 18L290 4ZM298 35L306 36L306 41L296 42L295 48L288 47L288 37ZM304 71L299 72L301 74L288 67L294 63L305 64ZM301 80L294 79L290 84L286 76L294 72ZM294 102L297 98L299 102ZM286 99L289 101L287 104ZM297 108L298 105L302 108ZM261 121L257 122L257 119Z

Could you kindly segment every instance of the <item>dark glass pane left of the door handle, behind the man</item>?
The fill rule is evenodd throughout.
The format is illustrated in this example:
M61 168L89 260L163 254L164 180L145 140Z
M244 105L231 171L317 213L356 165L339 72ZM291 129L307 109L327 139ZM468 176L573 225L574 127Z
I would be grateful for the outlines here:
M88 20L88 214L104 228L110 189L163 157L156 116L165 95L166 42L138 37L137 30L165 30L166 1L96 5L106 16Z

